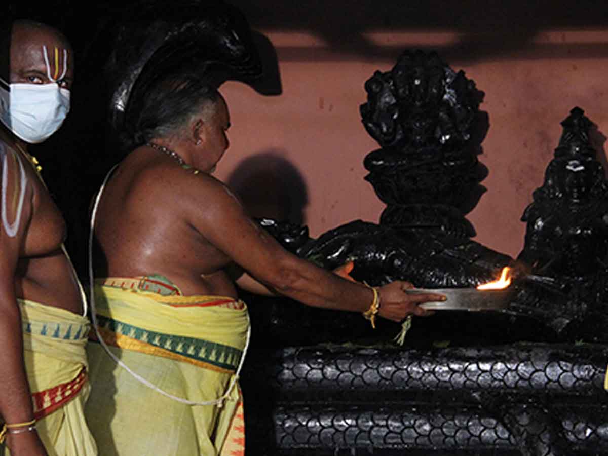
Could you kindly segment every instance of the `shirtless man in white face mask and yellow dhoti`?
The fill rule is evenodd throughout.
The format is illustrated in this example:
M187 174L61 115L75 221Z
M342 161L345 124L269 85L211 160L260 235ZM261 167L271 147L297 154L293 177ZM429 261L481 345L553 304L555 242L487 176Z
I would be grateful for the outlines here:
M56 30L0 29L0 454L97 455L83 415L86 303L65 223L27 151L63 123L73 69Z

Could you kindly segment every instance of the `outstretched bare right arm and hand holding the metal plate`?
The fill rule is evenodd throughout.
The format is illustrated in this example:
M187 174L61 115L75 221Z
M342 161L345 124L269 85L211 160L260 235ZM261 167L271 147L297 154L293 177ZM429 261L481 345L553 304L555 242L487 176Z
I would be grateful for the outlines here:
M193 226L256 280L310 306L355 312L369 308L374 293L367 286L290 254L246 215L225 185L206 175L192 178L184 188L184 202ZM410 314L426 314L418 303L443 299L435 294L409 295L407 288L412 288L407 282L381 287L379 314L400 321Z

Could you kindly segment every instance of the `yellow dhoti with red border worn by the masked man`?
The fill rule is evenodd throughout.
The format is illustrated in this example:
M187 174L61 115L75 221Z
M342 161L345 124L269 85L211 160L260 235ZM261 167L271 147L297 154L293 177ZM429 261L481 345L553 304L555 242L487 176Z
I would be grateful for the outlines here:
M29 300L18 302L36 429L47 453L97 455L84 412L90 390L85 352L88 319ZM10 452L0 447L0 454Z

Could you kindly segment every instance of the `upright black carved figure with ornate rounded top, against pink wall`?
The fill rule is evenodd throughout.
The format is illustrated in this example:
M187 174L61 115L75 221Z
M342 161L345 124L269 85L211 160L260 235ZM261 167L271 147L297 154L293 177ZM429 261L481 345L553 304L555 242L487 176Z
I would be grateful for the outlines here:
M389 206L381 224L474 236L459 209L478 181L472 131L482 93L475 83L417 50L391 71L376 71L365 91L362 122L381 146L365 157L365 179Z

